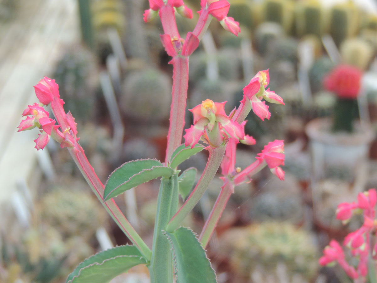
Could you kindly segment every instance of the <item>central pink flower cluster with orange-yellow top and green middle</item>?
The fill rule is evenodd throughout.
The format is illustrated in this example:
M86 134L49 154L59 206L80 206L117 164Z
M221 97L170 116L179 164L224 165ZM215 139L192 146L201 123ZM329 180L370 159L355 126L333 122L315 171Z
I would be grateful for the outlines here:
M225 102L204 100L190 111L194 115L194 125L186 129L185 145L194 147L203 137L211 147L217 147L229 138L237 142L245 138L244 125L231 120L224 110Z

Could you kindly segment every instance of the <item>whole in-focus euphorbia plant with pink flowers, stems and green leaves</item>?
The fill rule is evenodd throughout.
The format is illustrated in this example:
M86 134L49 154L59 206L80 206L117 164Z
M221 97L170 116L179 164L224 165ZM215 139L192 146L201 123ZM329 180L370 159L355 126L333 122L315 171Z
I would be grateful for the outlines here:
M185 17L192 17L182 0L149 0L150 9L144 13L147 22L157 14L161 18L164 34L161 42L168 55L172 57L173 88L170 111L170 127L167 136L166 158L164 162L156 159L135 160L124 163L116 169L103 185L90 166L83 148L78 143L77 124L70 112L63 109L55 80L44 77L35 88L40 103L28 106L20 123L19 131L37 127L40 130L35 140L35 148L43 149L52 137L62 148L67 148L93 192L103 203L107 212L120 226L132 242L132 246L118 246L100 252L83 261L67 282L107 282L130 267L144 264L150 272L153 283L178 282L216 282L216 275L205 254L205 246L213 233L222 211L235 186L250 182L256 172L268 166L277 177L284 180L284 144L275 140L262 150L256 161L243 170L236 166L236 147L238 143L253 145L256 141L244 132L245 117L253 112L262 120L271 114L268 102L284 104L281 97L265 89L269 83L268 70L260 71L244 88L244 98L238 108L228 115L224 110L226 102L205 100L190 111L194 115L193 125L186 129L185 143L182 143L184 116L189 77L189 56L198 47L211 19L215 17L225 29L237 35L238 22L227 17L229 3L226 0L201 0L199 20L195 29L185 39L179 35L175 11ZM59 125L49 117L44 109L49 105ZM199 141L201 143L199 143ZM178 168L190 156L207 150L207 165L185 203L178 208L178 195L187 196L193 185L196 169L181 172ZM225 156L224 156L225 154ZM181 227L181 222L198 203L221 165L223 186L199 236L189 228ZM153 245L148 247L127 221L116 205L113 197L154 178L161 178L158 207L153 233Z

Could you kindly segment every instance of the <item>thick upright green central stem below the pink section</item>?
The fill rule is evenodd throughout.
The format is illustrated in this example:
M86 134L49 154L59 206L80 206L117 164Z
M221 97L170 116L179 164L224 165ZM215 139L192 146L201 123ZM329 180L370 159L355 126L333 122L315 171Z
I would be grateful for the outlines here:
M169 219L178 209L178 173L170 178L162 177L158 193L155 228L153 232L152 257L149 275L151 283L173 282L172 247L164 235Z

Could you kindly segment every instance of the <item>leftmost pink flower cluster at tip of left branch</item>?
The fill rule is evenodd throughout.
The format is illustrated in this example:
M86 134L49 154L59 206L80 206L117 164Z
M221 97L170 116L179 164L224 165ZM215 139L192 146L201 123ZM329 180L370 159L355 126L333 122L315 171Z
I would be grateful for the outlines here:
M35 94L40 102L44 105L51 104L57 118L60 119L61 125L55 125L55 120L49 118L49 113L38 103L29 105L22 113L22 116L28 116L21 121L18 126L18 132L30 130L37 127L41 134L35 139L35 148L43 149L52 137L61 148L78 146L77 141L77 124L72 114L64 113L63 100L60 99L59 89L55 80L44 77L37 85L34 86ZM64 126L63 126L64 125ZM61 127L62 131L59 130Z

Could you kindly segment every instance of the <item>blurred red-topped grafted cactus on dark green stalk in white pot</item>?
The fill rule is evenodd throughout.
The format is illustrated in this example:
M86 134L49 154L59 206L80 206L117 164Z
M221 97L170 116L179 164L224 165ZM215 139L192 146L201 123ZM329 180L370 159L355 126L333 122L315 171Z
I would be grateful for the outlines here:
M339 65L325 78L325 88L337 95L333 123L335 132L352 132L353 130L353 122L359 115L356 99L360 92L361 77L360 69L349 65Z

